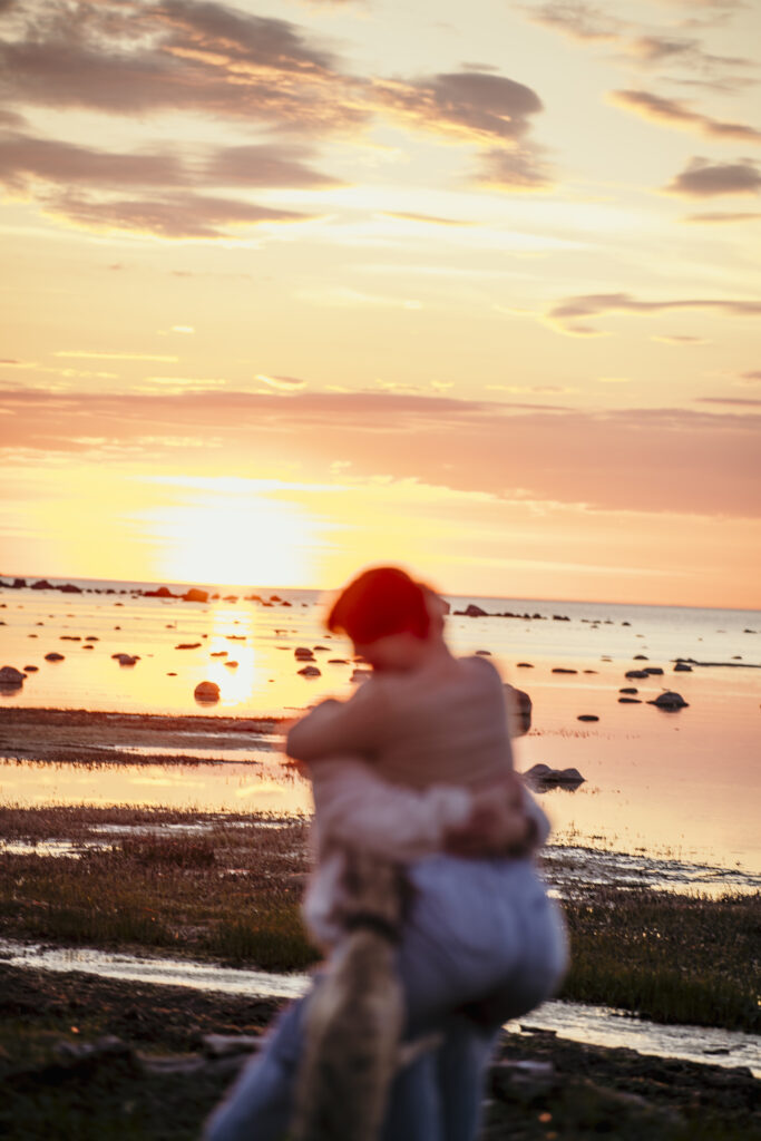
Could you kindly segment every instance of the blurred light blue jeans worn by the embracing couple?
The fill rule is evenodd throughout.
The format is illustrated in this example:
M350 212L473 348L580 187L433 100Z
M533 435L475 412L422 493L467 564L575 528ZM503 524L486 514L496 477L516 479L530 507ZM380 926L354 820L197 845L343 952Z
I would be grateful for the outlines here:
M383 1141L472 1141L500 1027L548 998L566 966L559 912L529 860L434 856L398 955L407 1037L443 1044L394 1083ZM469 1004L488 1001L473 1017ZM280 1141L288 1130L305 1001L293 1003L207 1123L207 1141Z

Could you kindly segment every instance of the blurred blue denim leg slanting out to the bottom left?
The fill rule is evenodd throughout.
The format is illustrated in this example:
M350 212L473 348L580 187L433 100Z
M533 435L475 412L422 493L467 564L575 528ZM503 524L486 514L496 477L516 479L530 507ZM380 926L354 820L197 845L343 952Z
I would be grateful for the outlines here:
M301 1044L303 998L280 1017L205 1124L204 1141L278 1141L288 1130Z

